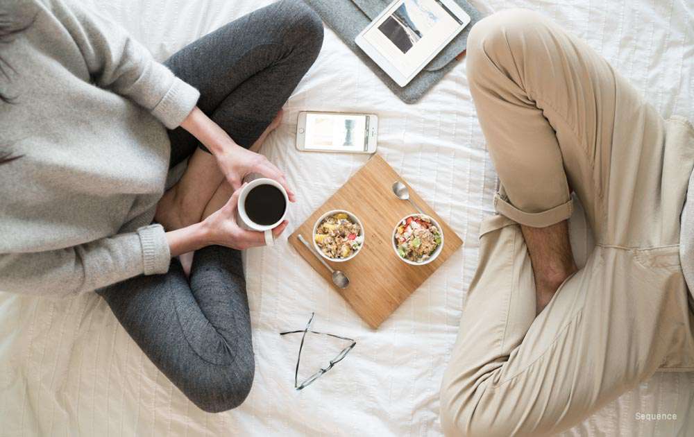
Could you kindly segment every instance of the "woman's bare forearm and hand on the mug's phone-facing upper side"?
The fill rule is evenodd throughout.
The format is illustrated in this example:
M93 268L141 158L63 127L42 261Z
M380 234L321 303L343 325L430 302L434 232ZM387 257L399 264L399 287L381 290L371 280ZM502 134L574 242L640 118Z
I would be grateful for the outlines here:
M290 202L296 200L294 192L287 185L287 178L280 169L267 160L266 157L246 150L234 142L227 133L210 120L199 108L194 108L181 123L181 127L190 132L208 148L217 158L219 169L229 181L233 189L241 187L244 178L251 173L260 173L266 178L280 182L287 190Z

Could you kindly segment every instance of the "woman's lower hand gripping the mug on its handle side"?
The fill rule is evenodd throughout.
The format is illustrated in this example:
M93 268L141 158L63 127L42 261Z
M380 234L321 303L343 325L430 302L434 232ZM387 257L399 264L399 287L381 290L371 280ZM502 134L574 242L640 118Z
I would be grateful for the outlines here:
M239 187L240 188L240 187ZM262 232L242 229L236 221L236 210L239 204L240 189L234 191L234 195L226 205L213 212L201 223L205 229L207 244L217 244L232 249L244 250L256 246L265 246L265 238ZM272 230L275 238L287 228L287 221L283 221Z

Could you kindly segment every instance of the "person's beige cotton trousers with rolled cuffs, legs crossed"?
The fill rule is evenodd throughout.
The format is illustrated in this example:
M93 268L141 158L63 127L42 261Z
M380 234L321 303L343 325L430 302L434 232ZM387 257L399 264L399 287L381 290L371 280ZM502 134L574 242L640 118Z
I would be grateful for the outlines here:
M475 25L468 78L502 188L441 386L449 436L541 436L657 370L694 370L679 216L694 130L663 120L584 42L510 10ZM535 318L518 223L568 218L577 194L597 247Z

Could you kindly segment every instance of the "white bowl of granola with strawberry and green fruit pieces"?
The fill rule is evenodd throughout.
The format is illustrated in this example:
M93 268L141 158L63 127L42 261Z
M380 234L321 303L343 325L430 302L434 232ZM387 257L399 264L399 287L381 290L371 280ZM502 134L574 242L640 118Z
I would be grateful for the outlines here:
M407 264L423 266L437 259L443 248L443 230L434 218L410 214L393 230L393 249Z

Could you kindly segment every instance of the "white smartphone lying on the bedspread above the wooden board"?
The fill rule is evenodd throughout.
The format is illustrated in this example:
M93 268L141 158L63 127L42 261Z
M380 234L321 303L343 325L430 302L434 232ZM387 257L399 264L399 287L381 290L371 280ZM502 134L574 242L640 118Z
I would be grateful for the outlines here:
M296 148L306 152L375 153L375 114L299 112Z

